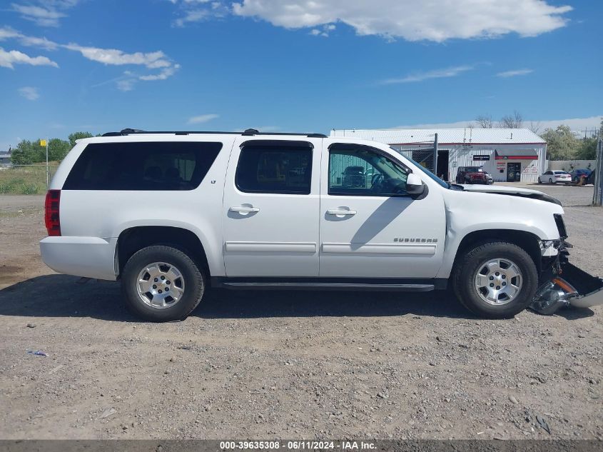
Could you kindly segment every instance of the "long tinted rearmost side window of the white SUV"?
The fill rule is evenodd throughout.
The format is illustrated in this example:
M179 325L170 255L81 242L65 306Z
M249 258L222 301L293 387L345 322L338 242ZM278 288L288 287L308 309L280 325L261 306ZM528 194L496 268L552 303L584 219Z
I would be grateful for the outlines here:
M88 144L64 190L193 190L218 156L221 143Z

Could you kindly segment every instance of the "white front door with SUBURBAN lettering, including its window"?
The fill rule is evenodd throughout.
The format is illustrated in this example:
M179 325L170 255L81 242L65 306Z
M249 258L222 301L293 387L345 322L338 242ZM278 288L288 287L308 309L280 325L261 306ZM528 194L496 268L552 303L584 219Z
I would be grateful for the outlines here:
M321 277L436 276L446 232L438 191L412 199L409 170L370 146L333 144L322 166Z

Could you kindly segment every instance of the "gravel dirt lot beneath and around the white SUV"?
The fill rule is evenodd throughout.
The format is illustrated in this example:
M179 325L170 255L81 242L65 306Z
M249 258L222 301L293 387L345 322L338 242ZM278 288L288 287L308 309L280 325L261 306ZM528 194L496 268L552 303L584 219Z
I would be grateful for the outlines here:
M592 187L530 188L603 274ZM485 321L447 292L213 291L143 323L117 283L41 263L42 206L0 196L0 438L603 438L603 307Z

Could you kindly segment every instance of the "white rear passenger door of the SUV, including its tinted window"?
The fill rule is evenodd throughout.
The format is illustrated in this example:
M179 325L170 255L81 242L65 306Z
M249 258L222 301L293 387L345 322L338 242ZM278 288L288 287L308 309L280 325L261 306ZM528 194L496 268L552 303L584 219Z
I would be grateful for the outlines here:
M223 202L226 276L318 276L321 146L235 141Z

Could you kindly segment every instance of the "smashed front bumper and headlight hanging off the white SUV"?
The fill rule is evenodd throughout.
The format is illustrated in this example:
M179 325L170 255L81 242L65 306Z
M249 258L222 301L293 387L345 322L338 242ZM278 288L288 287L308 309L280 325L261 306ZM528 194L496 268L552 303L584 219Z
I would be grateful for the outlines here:
M590 308L603 304L603 279L569 263L567 248L571 247L564 241L556 246L557 256L550 270L545 272L547 282L539 287L529 305L532 310L552 315L564 306Z

